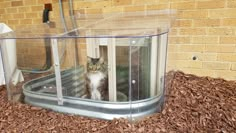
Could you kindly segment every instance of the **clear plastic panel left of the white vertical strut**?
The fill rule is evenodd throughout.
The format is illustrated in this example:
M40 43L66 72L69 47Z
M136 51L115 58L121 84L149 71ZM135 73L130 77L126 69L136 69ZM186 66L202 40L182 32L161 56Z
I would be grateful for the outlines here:
M9 46L14 45L15 51L9 49ZM49 74L53 75L54 73L53 60L50 58L52 54L50 39L1 39L1 52L8 99L11 101L24 101L23 89L27 82L32 81L34 83L38 81L36 79ZM14 54L16 55L16 60L11 59ZM12 62L15 62L16 66L10 65ZM13 69L13 71L10 69ZM52 86L55 88L55 81L52 83ZM27 89L38 93L42 93L42 89L48 88L47 81L45 84L32 84L27 87Z

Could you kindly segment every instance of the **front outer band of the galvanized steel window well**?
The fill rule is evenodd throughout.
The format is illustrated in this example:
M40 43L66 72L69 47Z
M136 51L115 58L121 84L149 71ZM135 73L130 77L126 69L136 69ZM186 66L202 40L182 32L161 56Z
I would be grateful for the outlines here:
M29 96L30 95L30 96ZM79 98L65 98L64 105L58 105L56 97L26 94L25 103L57 112L112 120L114 118L140 119L161 111L160 98L135 102L94 102Z

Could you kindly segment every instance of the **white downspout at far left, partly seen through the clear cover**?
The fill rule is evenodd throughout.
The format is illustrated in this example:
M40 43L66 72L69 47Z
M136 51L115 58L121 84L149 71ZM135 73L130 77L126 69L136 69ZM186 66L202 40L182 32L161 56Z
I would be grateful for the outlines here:
M7 33L11 32L12 29L9 28L6 24L0 23L0 34L1 33ZM17 58L16 58L16 40L15 39L3 39L1 41L1 61L0 61L0 85L6 84L6 75L4 75L4 72L8 75L9 82L16 85L18 82L24 81L22 72L17 69ZM5 58L5 59L3 59ZM7 65L4 65L3 68L3 62L8 63Z

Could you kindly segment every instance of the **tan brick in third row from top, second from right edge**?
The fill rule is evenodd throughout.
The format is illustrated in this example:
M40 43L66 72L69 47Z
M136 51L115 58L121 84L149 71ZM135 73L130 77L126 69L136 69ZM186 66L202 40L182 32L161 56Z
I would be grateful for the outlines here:
M220 26L220 19L198 19L193 20L194 27L216 27Z

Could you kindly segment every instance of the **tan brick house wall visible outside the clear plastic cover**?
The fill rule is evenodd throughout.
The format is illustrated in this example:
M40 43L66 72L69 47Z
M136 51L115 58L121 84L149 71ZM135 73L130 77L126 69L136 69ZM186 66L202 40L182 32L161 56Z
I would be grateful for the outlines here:
M68 0L63 1L68 16ZM75 12L83 13L177 9L169 36L168 70L236 79L235 0L73 1ZM52 18L59 16L58 0L1 0L0 20L13 29L41 23L44 3L52 3Z

